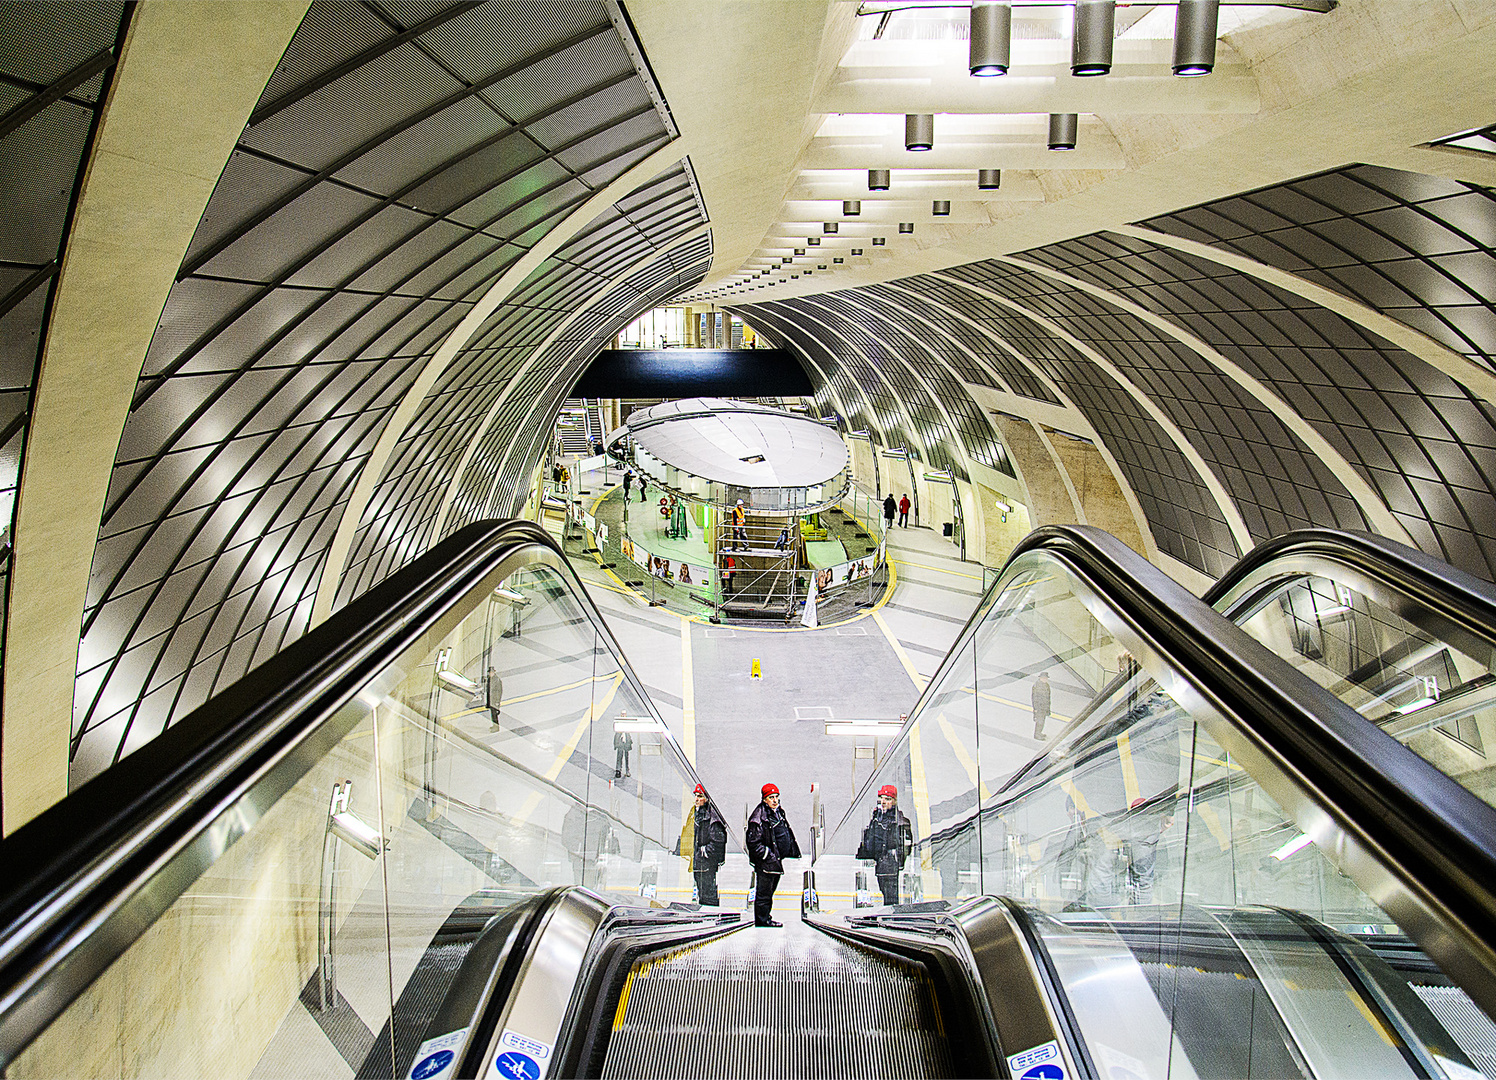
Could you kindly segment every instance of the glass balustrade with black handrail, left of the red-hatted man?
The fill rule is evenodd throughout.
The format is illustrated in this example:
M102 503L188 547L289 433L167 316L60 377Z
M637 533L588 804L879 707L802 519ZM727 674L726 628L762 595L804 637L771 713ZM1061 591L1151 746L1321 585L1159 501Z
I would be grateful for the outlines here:
M0 1062L405 1076L494 918L691 899L696 782L551 539L473 525L0 842Z

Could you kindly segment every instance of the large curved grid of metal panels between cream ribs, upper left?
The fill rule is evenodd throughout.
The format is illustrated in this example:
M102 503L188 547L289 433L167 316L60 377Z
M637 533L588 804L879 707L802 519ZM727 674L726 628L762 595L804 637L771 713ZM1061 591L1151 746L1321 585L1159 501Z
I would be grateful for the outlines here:
M672 138L645 78L594 0L313 3L208 203L121 440L75 781L305 630L352 486L440 341ZM474 346L489 363L506 347Z

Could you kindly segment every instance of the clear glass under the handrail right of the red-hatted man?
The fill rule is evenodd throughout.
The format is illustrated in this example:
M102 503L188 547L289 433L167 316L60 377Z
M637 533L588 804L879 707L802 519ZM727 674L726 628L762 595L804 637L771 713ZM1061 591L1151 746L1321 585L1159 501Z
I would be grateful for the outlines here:
M1459 1076L1420 993L1342 962L1342 939L1408 941L1212 739L1224 722L1062 562L1020 556L817 860L821 908L857 905L869 800L896 784L923 896L1019 900L1098 1076Z

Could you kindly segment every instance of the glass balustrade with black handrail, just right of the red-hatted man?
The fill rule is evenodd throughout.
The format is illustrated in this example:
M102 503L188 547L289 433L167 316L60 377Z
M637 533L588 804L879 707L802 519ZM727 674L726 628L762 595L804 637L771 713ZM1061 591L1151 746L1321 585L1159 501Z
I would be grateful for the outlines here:
M1088 528L1019 546L814 869L1007 898L1098 1076L1468 1076L1424 989L1496 1005L1496 811Z

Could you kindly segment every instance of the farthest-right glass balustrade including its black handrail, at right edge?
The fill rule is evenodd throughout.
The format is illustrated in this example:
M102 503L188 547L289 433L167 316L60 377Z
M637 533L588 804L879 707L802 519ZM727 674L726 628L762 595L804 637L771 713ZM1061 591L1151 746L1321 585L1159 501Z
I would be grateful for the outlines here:
M1206 592L1279 657L1496 803L1496 586L1369 533L1305 530Z

